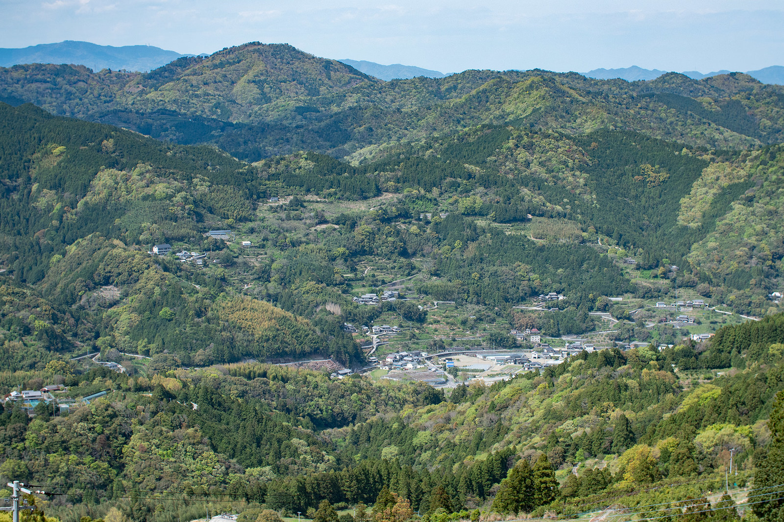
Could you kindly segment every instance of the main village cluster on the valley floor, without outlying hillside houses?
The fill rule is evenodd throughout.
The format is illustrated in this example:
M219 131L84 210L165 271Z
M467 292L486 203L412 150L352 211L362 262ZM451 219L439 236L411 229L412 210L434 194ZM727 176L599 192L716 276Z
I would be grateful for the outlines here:
M400 290L380 290L378 293L363 293L353 297L357 304L379 307L383 307L388 301L406 299ZM557 311L557 308L551 308L551 303L563 299L561 294L545 293L535 297L532 304L521 304L515 308L530 313ZM389 380L416 380L433 387L455 387L459 383L481 381L491 384L498 380L508 380L518 373L541 372L583 351L591 353L614 347L622 351L635 347L652 347L656 351L662 351L684 342L699 344L710 340L717 326L727 324L728 320L742 322L754 319L717 309L699 297L654 302L633 297L606 299L612 304L626 305L625 316L615 317L612 311L592 312L600 326L597 326L594 332L577 337L546 337L535 327L511 327L504 334L514 341L512 346L506 347L488 342L492 338L491 333L500 326L498 323L474 325L475 332L456 324L452 319L459 316L459 310L451 301L433 301L432 304L426 305L426 311L433 315L432 322L428 320L425 325L419 326L417 333L412 333L410 322L402 321L399 316L398 320L395 320L396 315L391 309L376 321L383 324L358 327L344 323L343 330L357 336L358 342L365 347L367 365L357 369L358 373ZM477 320L474 316L467 319L470 322ZM397 326L395 322L398 323ZM448 327L448 332L451 333L445 332L445 326L450 324L453 325ZM601 328L603 324L607 326ZM666 331L673 332L673 336L670 342L662 342L664 338L660 333L646 340L614 340L612 334L617 333L623 326L649 332L659 332L662 326L666 326ZM364 340L368 337L370 340ZM426 337L430 337L426 343L428 347L438 348L423 350L422 340ZM352 373L354 370L344 369L332 373L332 377L343 378Z

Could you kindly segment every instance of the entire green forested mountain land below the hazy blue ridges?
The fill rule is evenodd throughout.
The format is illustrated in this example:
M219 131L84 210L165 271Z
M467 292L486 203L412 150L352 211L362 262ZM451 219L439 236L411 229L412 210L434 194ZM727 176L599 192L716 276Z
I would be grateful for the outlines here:
M778 520L781 88L0 77L0 475L48 515Z

